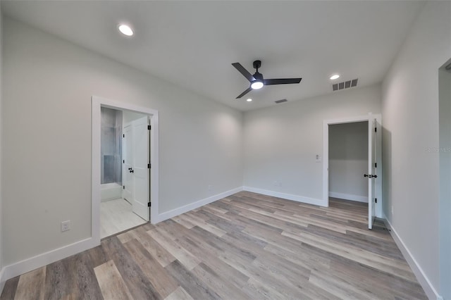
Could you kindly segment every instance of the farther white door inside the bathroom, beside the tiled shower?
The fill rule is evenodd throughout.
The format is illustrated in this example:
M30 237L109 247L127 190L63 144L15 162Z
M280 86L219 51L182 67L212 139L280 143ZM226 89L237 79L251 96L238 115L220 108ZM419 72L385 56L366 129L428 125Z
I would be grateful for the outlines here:
M133 134L132 125L125 125L123 128L123 191L122 197L132 204L133 192L135 191L135 181L133 180L133 173L130 171L133 168Z

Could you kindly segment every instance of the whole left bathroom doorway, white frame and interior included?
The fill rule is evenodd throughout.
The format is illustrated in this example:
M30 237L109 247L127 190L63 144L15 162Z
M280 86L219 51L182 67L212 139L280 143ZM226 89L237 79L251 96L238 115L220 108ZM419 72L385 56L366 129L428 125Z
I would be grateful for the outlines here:
M102 128L105 120L101 111L109 111L114 115L109 119L116 120L116 123ZM92 237L98 242L140 223L158 221L158 125L158 111L92 96ZM107 137L115 137L113 142L107 142L105 137L102 139L103 131L109 133ZM128 144L125 135L128 135ZM106 148L111 145L114 151ZM119 156L121 158L116 159ZM125 162L128 168L125 168ZM109 175L110 170L114 170L114 176L107 179L113 182L105 182L105 175ZM110 199L106 200L103 187L111 184L118 185L120 192L115 190L114 195L113 191L107 192ZM131 194L124 192L127 186ZM104 206L111 207L107 207L105 212ZM114 215L115 211L120 215ZM128 213L128 216L123 213ZM125 227L119 227L121 230L116 229L117 232L113 229L105 231L103 221L108 221L107 218L116 225L123 223ZM135 218L135 222L130 218Z

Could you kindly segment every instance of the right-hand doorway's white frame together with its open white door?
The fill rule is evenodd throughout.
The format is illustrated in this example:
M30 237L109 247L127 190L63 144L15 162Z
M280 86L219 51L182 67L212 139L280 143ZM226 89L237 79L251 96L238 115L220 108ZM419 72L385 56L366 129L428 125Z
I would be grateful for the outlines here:
M324 203L326 203L326 206L329 205L330 126L362 122L365 122L367 124L368 130L368 163L366 173L362 173L361 176L367 180L368 185L368 228L371 229L374 219L376 217L381 218L382 215L381 115L373 115L372 113L369 113L368 115L356 118L325 120L323 122L323 201Z

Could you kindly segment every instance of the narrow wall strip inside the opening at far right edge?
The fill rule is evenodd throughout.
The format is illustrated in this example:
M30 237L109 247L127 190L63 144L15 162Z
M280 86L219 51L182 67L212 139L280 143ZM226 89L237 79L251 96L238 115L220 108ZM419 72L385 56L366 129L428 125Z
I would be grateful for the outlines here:
M450 54L451 57L451 54ZM451 63L447 61L446 65ZM451 299L451 70L438 74L440 159L440 294Z

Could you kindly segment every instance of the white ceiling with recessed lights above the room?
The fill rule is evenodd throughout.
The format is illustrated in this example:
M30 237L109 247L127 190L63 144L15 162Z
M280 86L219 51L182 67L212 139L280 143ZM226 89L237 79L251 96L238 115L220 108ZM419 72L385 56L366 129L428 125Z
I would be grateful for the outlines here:
M242 111L332 92L338 81L381 82L420 1L1 1L5 15ZM130 23L135 36L117 31ZM235 97L249 82L302 77ZM279 104L283 105L283 104Z

